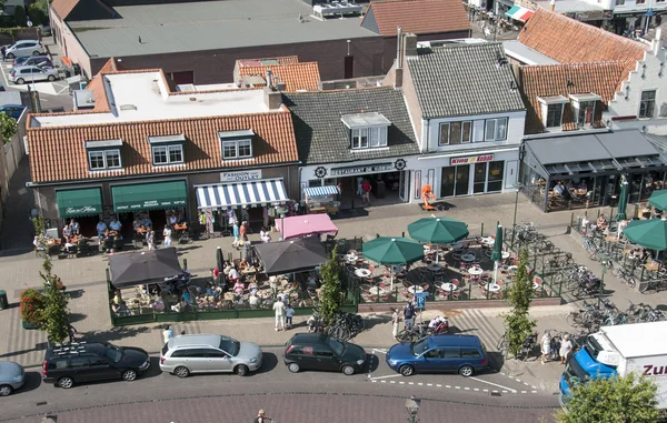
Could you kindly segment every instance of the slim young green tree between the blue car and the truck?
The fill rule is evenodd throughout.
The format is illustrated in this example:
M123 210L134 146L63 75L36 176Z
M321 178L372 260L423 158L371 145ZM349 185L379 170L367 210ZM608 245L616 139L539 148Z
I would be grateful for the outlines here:
M519 251L519 265L514 283L507 290L507 302L512 306L505 314L505 330L509 343L508 351L517 356L524 346L524 342L532 334L537 325L536 321L528 319L528 309L532 300L532 282L528 278L528 252L526 249Z

